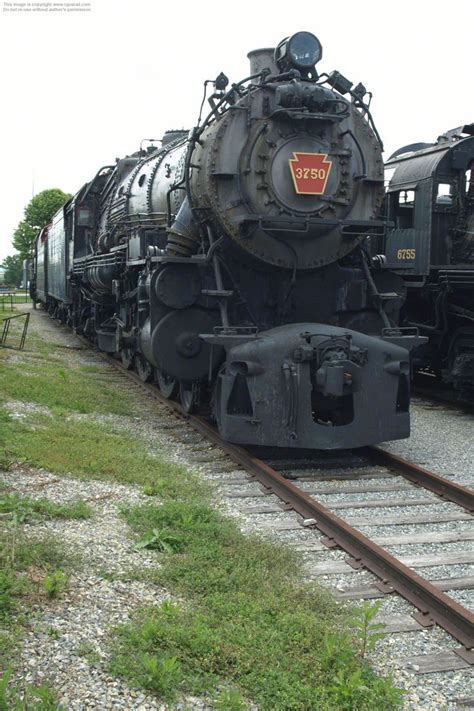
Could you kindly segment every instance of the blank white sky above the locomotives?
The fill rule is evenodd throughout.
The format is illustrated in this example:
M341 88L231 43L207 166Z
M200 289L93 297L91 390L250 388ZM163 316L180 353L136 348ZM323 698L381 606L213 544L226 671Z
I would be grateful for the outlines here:
M191 127L204 79L238 81L249 50L298 30L319 37L320 72L373 92L386 157L474 121L473 0L91 0L84 13L1 1L0 260L33 181L74 193L142 138Z

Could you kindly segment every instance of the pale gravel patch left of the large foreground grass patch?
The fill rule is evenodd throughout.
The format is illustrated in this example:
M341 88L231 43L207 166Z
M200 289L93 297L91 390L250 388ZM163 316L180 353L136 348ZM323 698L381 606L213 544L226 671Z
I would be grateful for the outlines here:
M120 506L144 503L147 497L136 487L78 481L42 470L2 472L1 480L32 499L61 504L82 499L93 510L91 519L25 526L26 534L35 539L56 538L66 553L79 557L79 567L58 600L33 604L32 610L30 606L17 679L35 685L48 681L62 706L72 711L169 709L107 673L111 630L127 622L138 607L173 599L157 585L128 577L132 567L157 565L153 554L134 550L128 527L119 515ZM183 708L208 708L205 701L194 697L182 704Z

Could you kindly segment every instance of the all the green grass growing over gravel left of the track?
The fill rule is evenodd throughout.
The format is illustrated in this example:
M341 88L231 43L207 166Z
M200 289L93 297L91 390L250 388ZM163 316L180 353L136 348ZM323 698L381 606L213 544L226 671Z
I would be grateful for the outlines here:
M37 337L30 348L27 366L5 362L0 395L47 406L51 414L18 421L0 409L4 464L143 486L150 502L123 515L136 549L155 551L159 566L136 577L184 601L139 609L115 630L113 673L170 702L184 692L209 692L221 711L240 711L247 699L262 711L399 707L400 692L364 658L379 634L371 610L351 612L323 589L305 585L296 554L244 536L209 506L207 486L184 467L147 454L147 443L135 434L66 419L68 412L122 414L134 404L94 366L65 367L67 356ZM26 508L27 515L50 515ZM5 619L28 595L51 591L54 597L67 585L65 564L41 563L38 551L41 575L32 588L25 555L7 556ZM79 652L94 654L87 647Z

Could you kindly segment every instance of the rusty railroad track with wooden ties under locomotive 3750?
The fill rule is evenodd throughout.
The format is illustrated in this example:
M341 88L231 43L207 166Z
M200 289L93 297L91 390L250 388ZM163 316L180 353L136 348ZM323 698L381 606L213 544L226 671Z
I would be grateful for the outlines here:
M90 344L84 339L80 339ZM100 352L99 352L100 353ZM370 447L350 453L294 452L278 453L249 451L223 441L217 430L205 418L183 413L181 406L164 398L155 385L144 383L133 371L125 370L114 358L100 353L117 369L120 378L134 382L135 387L166 405L174 414L189 423L209 442L225 452L245 477L229 479L229 492L234 500L242 500L242 512L268 516L269 528L276 530L312 530L314 540L305 542L300 550L317 552L340 548L346 553L344 560L317 564L316 576L332 575L365 568L378 579L362 586L349 586L336 592L343 600L364 600L398 593L415 606L417 611L403 619L388 619L388 632L408 632L439 625L453 638L449 649L437 654L414 656L407 665L417 673L455 671L474 665L474 614L447 593L474 588L474 576L452 576L428 580L419 575L418 568L440 565L440 555L397 556L389 552L392 546L439 543L452 544L474 540L474 528L461 531L433 532L440 523L471 523L474 511L474 491L445 477L428 471L412 462L393 455L379 447ZM201 458L201 461L205 461ZM259 484L246 490L247 484ZM244 487L242 489L242 487ZM270 495L278 498L267 503ZM356 500L322 501L332 495L357 495ZM428 494L428 495L427 495ZM387 496L388 495L388 496ZM270 496L271 498L271 496ZM430 511L417 515L416 507L451 503L450 511ZM415 513L400 513L407 509ZM357 515L359 509L371 509L370 517ZM271 522L271 515L282 511L294 512L289 523ZM346 513L347 512L347 513ZM354 513L355 512L355 513ZM402 524L423 525L420 532L398 535L396 528ZM390 527L393 534L365 535L364 527ZM323 537L319 538L318 534ZM443 564L474 563L474 552L451 552Z

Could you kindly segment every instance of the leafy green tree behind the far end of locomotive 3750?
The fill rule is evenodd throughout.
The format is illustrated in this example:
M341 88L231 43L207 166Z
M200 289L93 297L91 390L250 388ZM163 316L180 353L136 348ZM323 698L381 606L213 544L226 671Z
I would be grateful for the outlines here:
M53 215L70 197L69 193L52 188L43 190L30 200L25 207L25 218L18 224L12 238L13 246L20 253L21 259L31 257L38 230L51 222Z

